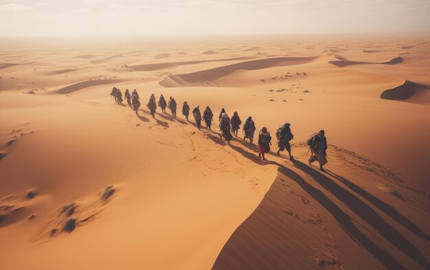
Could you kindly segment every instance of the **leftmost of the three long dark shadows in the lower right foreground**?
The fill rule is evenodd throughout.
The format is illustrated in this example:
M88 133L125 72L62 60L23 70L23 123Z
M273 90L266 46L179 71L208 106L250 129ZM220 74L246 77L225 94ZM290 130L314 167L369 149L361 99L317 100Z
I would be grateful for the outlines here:
M298 164L297 167L303 167L300 164L301 162L296 161L296 163ZM313 168L304 169L306 172L308 172L309 170L313 170ZM405 269L405 267L403 267L403 265L400 265L400 262L393 258L391 254L389 254L384 249L381 249L380 247L375 245L372 240L367 238L367 236L365 236L365 234L363 234L359 230L359 228L357 228L357 226L352 223L350 216L343 212L341 208L336 205L336 203L333 203L330 199L328 199L324 192L321 192L321 190L315 188L313 185L310 185L310 183L306 182L300 175L298 175L293 170L286 168L286 166L280 165L278 168L278 172L298 183L304 191L308 192L310 196L313 196L315 201L317 201L321 206L326 208L326 210L330 212L330 214L336 219L339 225L341 225L341 227L345 229L345 231L352 238L354 238L354 240L357 240L365 249L367 249L367 251L370 252L370 254L372 254L376 258L376 260L381 262L381 264L384 265L387 269ZM321 175L320 173L318 174ZM320 178L320 176L316 175L315 173L312 173L312 175L315 175L318 179Z

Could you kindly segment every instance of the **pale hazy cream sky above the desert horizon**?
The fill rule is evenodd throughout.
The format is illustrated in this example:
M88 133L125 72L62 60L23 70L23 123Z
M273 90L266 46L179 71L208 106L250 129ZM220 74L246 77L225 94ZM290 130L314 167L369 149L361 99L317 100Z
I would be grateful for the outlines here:
M1 36L430 32L430 0L0 0Z

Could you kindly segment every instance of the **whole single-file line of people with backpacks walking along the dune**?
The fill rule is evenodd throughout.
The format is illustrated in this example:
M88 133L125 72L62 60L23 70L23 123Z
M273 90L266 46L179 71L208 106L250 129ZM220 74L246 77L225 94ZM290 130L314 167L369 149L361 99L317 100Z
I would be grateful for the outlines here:
M113 97L115 98L115 102L122 104L123 100L120 89L113 87L111 95L113 95ZM138 114L137 110L139 109L141 104L139 101L139 94L137 93L136 89L134 89L133 93L131 94L129 93L128 89L126 89L124 97L126 98L128 105L133 107L135 113ZM155 100L154 94L150 95L148 104L146 106L148 107L148 110L150 111L152 117L155 118L157 102ZM172 117L177 117L177 102L171 96L169 98L169 101L166 102L166 99L161 94L158 100L158 106L161 108L162 113L166 113L166 108L168 108L170 109ZM185 116L185 119L189 121L188 117L190 115L190 106L186 101L183 102L182 114ZM196 126L197 128L199 128L199 130L201 130L201 123L203 120L205 122L206 128L212 131L214 113L212 113L212 109L210 109L210 106L206 106L202 115L200 111L200 106L197 105L192 110L192 115L194 117L194 122L196 123ZM240 120L238 112L235 111L230 119L229 115L227 115L225 109L223 108L218 115L218 122L218 126L220 128L220 138L225 139L227 144L230 144L231 139L233 139L233 135L238 137L238 131L240 129L240 125L242 124L242 120ZM251 116L247 117L247 120L245 120L245 123L242 127L242 131L244 141L249 139L250 144L253 144L253 137L256 132L256 124L253 122ZM280 126L280 128L277 129L275 135L278 139L278 151L276 154L279 156L280 152L286 150L288 152L289 158L291 160L294 160L294 157L291 155L290 144L291 140L294 139L294 135L291 132L291 124L285 123L284 125ZM270 146L272 145L271 140L271 134L267 130L267 127L264 126L258 133L258 157L264 161L267 160L264 155L270 152ZM321 170L324 170L323 166L327 163L327 139L324 130L321 130L318 133L314 133L313 135L311 135L306 141L306 144L309 146L311 153L308 163L312 164L314 161L318 161L319 168Z

